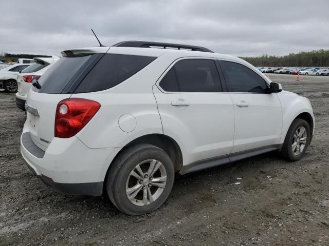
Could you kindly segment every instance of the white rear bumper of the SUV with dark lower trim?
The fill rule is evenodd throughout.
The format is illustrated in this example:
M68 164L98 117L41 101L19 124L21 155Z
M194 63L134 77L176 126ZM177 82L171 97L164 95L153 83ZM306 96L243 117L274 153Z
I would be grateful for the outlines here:
M55 137L43 151L27 139L29 134L25 122L21 153L29 169L46 185L65 194L102 194L109 164L121 148L90 149L74 136Z

